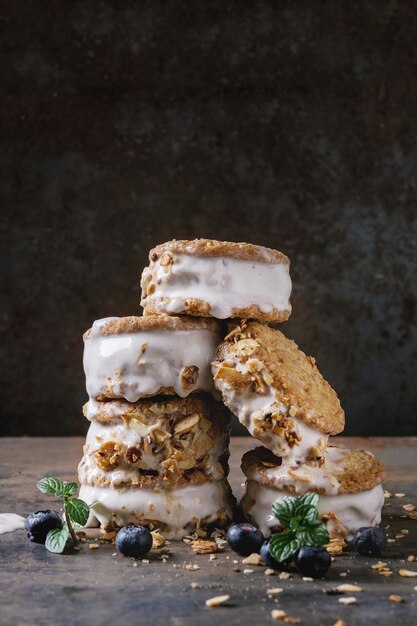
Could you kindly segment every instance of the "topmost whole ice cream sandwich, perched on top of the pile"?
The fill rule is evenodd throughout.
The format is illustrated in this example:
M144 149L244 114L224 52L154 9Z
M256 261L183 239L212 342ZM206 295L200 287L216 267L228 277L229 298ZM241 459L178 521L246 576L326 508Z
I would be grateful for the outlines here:
M288 258L249 243L195 239L160 244L149 253L141 287L145 315L283 322L291 314Z

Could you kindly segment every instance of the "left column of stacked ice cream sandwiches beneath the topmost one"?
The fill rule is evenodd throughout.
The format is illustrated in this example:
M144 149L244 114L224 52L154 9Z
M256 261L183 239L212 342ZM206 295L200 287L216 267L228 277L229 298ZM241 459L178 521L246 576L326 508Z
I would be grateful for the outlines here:
M216 320L165 315L102 319L85 333L80 494L97 501L104 529L181 537L230 520L230 413L210 372L221 338Z

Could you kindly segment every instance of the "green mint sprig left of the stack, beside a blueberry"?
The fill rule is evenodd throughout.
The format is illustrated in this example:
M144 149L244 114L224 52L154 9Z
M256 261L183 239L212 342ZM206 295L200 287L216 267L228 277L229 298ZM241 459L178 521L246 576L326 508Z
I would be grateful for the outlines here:
M85 526L90 514L90 508L94 504L89 506L84 500L73 497L78 491L77 483L69 483L54 476L48 476L38 480L37 486L42 493L55 496L63 502L65 521L60 528L50 530L45 541L47 550L61 554L65 550L70 537L74 545L78 543L72 524Z

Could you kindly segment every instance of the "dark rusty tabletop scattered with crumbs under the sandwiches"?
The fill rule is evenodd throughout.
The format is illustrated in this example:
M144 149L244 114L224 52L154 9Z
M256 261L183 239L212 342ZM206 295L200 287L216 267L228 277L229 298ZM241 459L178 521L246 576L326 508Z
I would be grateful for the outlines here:
M1 512L26 515L54 508L51 498L37 491L36 481L46 475L74 480L82 443L79 437L0 439ZM349 552L335 557L324 580L309 582L295 571L287 580L265 576L262 566L244 574L241 557L229 549L210 562L207 555L194 555L184 542L172 542L166 564L152 552L149 564L136 564L108 544L92 550L87 543L78 553L53 555L17 532L0 537L0 624L258 625L272 623L275 608L311 626L332 626L337 620L348 626L415 624L417 578L398 572L417 572L417 561L407 561L407 556L417 556L417 520L403 509L407 503L417 505L417 438L344 438L343 443L376 452L386 464L385 487L392 497L386 500L383 525L394 541L383 560L392 576L371 569L378 559ZM249 438L232 440L231 483L237 496L243 482L240 458L250 447ZM402 529L408 534L396 538ZM199 569L184 569L185 561ZM193 589L192 582L200 587ZM348 594L356 596L356 604L342 605L340 595L324 593L341 583L362 587L361 593ZM267 589L273 587L283 591L269 597ZM221 594L230 595L227 605L205 606L206 599ZM390 601L390 594L401 595L404 602Z

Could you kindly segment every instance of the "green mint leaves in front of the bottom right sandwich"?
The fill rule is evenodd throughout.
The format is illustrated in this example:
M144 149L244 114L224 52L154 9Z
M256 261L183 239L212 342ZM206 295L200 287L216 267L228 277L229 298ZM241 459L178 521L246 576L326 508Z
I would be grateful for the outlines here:
M276 561L290 559L303 546L322 546L330 541L326 526L319 519L318 504L319 496L312 492L274 502L272 513L285 529L273 534L269 542Z

